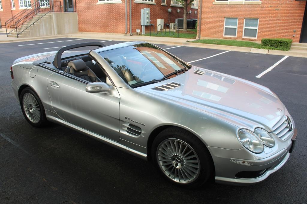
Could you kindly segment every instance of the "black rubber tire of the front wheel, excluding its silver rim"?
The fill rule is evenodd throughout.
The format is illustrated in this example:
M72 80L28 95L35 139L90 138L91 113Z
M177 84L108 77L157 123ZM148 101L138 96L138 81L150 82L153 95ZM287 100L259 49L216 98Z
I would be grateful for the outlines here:
M161 142L163 142L166 139L170 139L170 138L175 138L175 139L179 139L179 140L186 142L196 152L200 160L200 175L196 178L195 181L191 183L177 183L177 182L174 182L172 179L170 179L168 176L166 176L164 172L162 172L160 168L160 164L157 161L157 155L156 155L157 148ZM204 145L202 141L200 141L199 138L197 138L194 134L186 130L174 127L174 128L168 128L162 131L154 139L151 150L152 150L151 158L152 158L153 165L158 169L158 171L168 181L170 181L171 183L177 186L194 189L196 187L202 186L204 183L209 183L214 178L214 164L212 161L211 154L209 153L207 147Z

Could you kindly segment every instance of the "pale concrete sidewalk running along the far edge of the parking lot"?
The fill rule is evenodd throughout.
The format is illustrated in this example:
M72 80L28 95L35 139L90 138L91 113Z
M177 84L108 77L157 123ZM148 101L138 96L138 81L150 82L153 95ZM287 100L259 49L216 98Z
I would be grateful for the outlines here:
M46 40L54 38L84 38L84 39L97 39L97 40L115 40L115 41L146 41L149 43L156 44L168 44L177 46L188 46L188 47L203 47L218 50L232 50L240 52L251 52L251 53L262 53L269 55L288 55L293 57L305 57L307 58L306 51L279 51L279 50L264 50L256 49L250 47L235 47L227 45L214 45L214 44L203 44L203 43L190 43L187 41L192 41L193 39L187 38L170 38L170 37L156 37L156 36L126 36L124 34L112 34L112 33L94 33L94 32L78 32L75 34L61 35L61 36L43 36L36 38L11 38L6 37L6 35L0 35L0 43L11 43L11 42L21 42L21 41L31 41L31 40Z

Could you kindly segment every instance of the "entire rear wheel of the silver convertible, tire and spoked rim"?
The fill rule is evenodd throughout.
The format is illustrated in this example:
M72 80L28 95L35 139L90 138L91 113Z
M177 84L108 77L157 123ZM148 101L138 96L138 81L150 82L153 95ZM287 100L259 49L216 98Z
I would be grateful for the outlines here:
M33 89L29 87L23 89L20 93L19 101L21 111L30 125L33 127L45 127L48 124L45 108Z

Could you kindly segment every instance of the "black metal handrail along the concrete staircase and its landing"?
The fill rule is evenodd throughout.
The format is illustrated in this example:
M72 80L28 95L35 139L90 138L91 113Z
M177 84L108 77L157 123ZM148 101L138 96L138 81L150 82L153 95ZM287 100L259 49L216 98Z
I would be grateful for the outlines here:
M73 0L73 11L76 12L76 0ZM29 7L10 18L5 22L6 36L16 30L16 35L20 35L31 25L34 25L38 20L51 12L63 12L62 2L55 0L37 0Z

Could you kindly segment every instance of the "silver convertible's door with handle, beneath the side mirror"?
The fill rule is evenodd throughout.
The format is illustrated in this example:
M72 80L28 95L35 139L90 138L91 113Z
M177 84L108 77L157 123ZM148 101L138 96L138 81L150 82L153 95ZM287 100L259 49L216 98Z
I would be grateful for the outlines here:
M87 83L65 74L54 73L47 79L52 108L61 119L118 142L120 97L109 85L109 92L88 93Z

